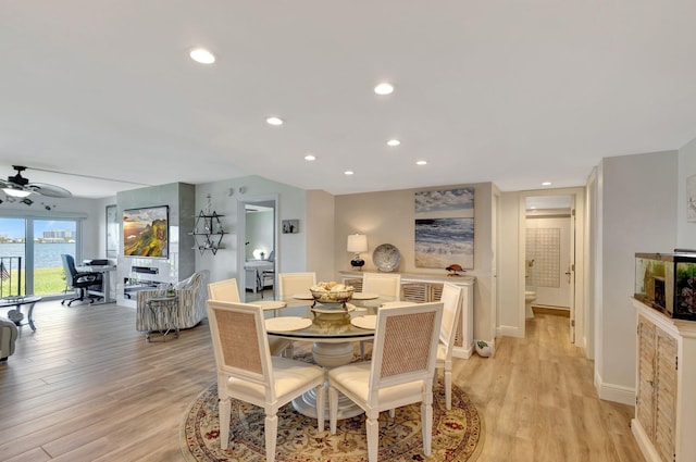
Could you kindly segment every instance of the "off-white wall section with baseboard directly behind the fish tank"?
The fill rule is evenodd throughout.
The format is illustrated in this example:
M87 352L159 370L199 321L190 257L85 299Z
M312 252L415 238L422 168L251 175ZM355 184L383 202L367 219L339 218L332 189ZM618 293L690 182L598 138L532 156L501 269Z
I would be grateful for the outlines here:
M595 386L599 397L634 402L635 252L676 245L676 151L606 158L599 170L601 224L595 288Z

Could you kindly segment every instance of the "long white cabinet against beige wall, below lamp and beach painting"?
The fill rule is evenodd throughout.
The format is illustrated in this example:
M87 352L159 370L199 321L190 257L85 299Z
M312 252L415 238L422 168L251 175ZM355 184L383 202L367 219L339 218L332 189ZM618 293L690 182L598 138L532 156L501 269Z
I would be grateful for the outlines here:
M351 285L356 290L362 289L362 272L340 272L344 284ZM419 274L401 274L401 300L428 302L438 301L443 295L443 284L451 283L462 287L461 319L457 323L455 334L456 358L469 358L474 352L474 283L472 276L438 277Z

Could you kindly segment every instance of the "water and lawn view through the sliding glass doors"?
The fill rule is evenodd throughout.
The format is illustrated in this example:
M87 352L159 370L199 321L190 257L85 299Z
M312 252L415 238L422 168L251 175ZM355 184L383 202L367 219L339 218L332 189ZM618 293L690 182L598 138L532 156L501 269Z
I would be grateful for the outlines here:
M22 295L47 296L63 292L65 274L61 254L75 257L76 240L75 220L0 217L0 257L22 258L20 274L15 266L9 271L11 277L3 282L13 285L13 288L2 287L3 296L10 294L10 290L12 295L16 295L17 277L22 280Z

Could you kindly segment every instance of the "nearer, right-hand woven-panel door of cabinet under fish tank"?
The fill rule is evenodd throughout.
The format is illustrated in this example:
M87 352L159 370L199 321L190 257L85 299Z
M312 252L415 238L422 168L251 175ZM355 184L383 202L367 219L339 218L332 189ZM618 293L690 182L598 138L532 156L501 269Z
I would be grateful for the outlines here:
M657 328L655 449L664 462L674 460L676 348L676 339Z

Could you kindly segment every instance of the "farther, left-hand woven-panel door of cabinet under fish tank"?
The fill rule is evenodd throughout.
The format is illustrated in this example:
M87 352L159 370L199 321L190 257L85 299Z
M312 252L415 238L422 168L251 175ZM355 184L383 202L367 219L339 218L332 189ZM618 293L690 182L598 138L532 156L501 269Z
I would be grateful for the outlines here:
M655 351L657 327L638 316L638 390L636 419L651 441L655 440Z

